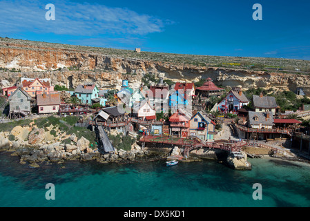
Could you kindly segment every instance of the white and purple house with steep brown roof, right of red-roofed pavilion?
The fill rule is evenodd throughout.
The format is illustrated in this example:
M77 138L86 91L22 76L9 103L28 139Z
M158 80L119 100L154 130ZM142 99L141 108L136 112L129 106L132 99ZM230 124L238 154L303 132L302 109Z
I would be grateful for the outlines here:
M217 108L222 113L235 113L237 114L239 109L249 104L249 99L242 93L241 88L235 88L231 90L224 99L218 104Z

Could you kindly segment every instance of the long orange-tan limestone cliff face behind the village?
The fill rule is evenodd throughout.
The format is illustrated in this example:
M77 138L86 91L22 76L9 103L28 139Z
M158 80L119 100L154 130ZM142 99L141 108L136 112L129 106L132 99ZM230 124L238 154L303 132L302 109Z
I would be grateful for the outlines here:
M48 48L23 44L0 44L0 67L21 70L19 73L0 71L0 86L12 86L19 77L51 78L52 84L76 87L87 81L96 82L99 88L120 88L122 79L138 88L144 74L173 81L199 81L211 77L221 86L242 88L304 88L310 96L309 75L267 73L233 68L177 66L142 59L126 59L97 52ZM65 68L58 71L58 68ZM75 68L78 70L68 70ZM126 74L128 73L128 74Z

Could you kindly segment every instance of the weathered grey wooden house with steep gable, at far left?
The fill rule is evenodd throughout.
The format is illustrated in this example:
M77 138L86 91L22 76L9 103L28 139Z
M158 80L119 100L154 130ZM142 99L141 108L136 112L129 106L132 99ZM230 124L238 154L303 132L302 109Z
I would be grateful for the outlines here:
M10 101L10 119L25 117L31 113L32 97L23 88L17 88L8 100Z

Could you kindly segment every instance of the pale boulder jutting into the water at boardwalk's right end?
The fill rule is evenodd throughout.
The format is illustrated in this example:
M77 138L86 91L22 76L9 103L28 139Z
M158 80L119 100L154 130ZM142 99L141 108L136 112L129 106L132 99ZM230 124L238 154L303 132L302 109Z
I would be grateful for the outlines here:
M251 163L247 161L247 155L244 152L230 153L226 162L235 170L251 170Z

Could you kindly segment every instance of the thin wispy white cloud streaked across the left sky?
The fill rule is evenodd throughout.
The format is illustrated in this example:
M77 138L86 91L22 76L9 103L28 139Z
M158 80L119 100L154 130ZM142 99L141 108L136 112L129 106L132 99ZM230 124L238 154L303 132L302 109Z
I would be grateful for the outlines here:
M53 4L56 19L47 21L48 10L40 1L0 1L0 35L26 31L77 36L148 35L162 32L164 26L172 23L127 8L68 0Z

